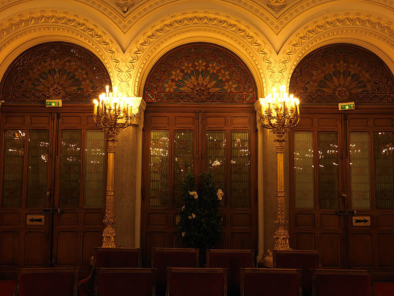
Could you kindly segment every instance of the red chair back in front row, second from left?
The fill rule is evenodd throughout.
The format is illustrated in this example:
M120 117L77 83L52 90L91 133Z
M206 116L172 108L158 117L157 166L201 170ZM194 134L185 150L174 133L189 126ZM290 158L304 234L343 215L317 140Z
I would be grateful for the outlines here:
M96 268L95 296L155 296L155 268Z

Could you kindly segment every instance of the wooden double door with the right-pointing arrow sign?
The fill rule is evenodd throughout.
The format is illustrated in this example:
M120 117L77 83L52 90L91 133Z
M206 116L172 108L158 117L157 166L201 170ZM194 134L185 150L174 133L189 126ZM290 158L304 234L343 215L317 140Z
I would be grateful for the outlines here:
M393 279L394 115L370 112L304 112L289 134L292 248Z

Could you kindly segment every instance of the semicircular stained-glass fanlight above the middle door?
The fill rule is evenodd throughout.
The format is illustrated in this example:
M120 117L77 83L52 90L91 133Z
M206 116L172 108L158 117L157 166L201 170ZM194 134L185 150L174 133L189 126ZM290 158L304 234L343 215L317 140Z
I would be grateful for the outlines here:
M257 87L245 63L211 43L189 43L167 52L148 75L146 102L250 103Z

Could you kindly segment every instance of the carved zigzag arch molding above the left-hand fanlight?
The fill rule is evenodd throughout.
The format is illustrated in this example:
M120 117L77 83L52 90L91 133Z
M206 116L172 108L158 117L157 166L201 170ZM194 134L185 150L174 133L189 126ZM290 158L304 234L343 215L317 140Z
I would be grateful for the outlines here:
M98 55L107 68L112 80L116 80L119 68L119 51L111 39L105 37L103 30L92 26L87 20L81 20L73 15L56 11L31 12L29 15L18 15L10 19L0 28L0 37L6 40L0 47L0 53L20 38L29 38L37 32L58 32L72 35L85 44L87 49ZM45 37L45 36L42 36ZM59 41L59 40L57 40ZM61 40L60 40L61 41ZM69 42L69 40L65 40ZM81 45L81 44L80 44ZM5 65L8 67L8 65Z

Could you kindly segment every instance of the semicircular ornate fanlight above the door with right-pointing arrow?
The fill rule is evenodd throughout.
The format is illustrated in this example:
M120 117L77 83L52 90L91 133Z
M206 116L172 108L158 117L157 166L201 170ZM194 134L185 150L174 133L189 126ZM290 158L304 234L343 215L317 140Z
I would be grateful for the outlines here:
M357 45L331 44L301 60L289 91L303 103L393 103L394 77L374 53Z

